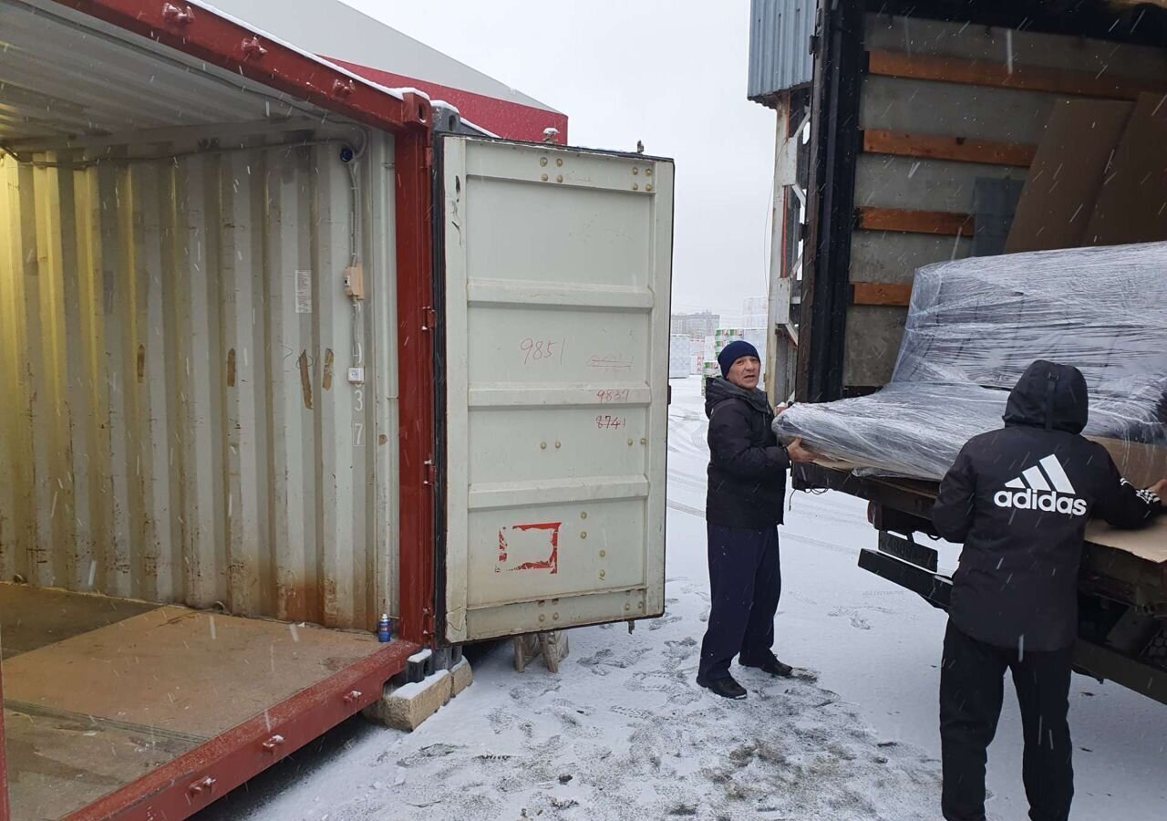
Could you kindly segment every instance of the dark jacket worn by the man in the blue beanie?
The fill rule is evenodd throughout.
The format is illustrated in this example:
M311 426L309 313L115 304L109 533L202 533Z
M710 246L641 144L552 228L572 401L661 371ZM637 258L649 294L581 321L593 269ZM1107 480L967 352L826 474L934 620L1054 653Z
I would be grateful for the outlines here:
M727 380L705 383L710 418L710 524L764 530L782 523L790 459L771 430L774 409L766 392Z

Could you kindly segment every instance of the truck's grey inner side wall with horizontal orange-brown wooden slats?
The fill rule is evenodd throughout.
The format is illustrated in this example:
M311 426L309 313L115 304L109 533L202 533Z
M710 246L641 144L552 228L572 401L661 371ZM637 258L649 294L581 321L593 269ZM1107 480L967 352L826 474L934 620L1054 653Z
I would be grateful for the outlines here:
M972 252L976 180L1025 179L1057 99L1167 92L1167 49L1011 35L867 18L847 385L890 378L915 267Z

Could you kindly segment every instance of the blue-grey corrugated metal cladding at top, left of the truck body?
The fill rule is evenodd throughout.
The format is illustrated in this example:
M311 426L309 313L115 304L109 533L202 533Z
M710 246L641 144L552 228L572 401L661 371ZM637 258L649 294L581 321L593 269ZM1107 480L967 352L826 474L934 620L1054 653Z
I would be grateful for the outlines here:
M810 39L816 0L750 0L749 99L809 85L815 76Z

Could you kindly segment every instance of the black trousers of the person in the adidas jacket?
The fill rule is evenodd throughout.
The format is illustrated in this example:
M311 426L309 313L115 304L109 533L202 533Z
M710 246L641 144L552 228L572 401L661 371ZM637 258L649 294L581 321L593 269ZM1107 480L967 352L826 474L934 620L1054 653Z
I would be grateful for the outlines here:
M1067 723L1074 648L1029 653L997 647L949 622L941 667L941 749L948 821L985 817L985 759L1001 715L1005 670L1021 707L1025 754L1021 777L1033 821L1065 821L1074 798Z

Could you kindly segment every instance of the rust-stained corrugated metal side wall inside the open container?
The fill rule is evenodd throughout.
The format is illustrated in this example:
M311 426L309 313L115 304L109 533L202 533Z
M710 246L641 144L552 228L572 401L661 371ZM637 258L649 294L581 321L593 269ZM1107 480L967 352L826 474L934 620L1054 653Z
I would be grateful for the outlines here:
M345 165L198 138L0 161L0 575L371 627L397 598L392 139Z

